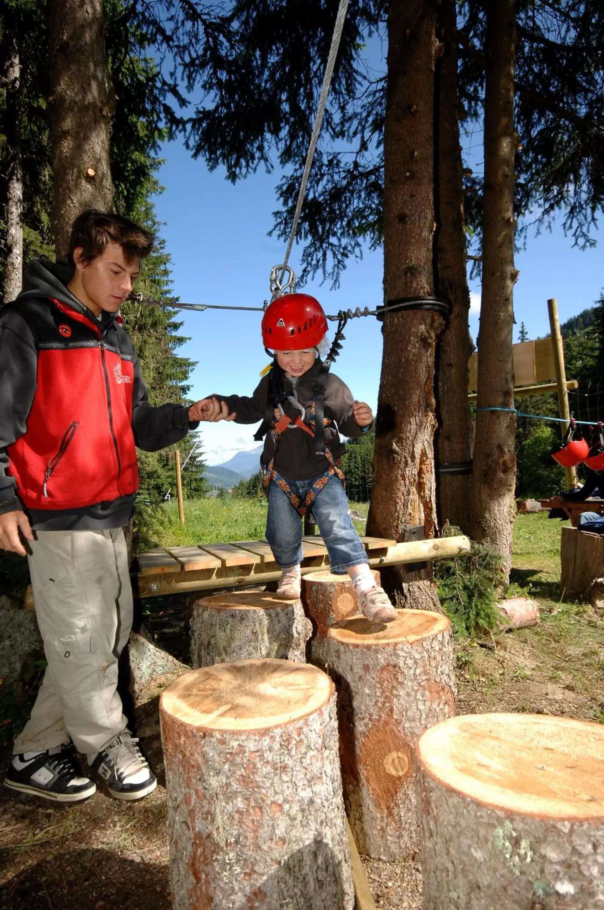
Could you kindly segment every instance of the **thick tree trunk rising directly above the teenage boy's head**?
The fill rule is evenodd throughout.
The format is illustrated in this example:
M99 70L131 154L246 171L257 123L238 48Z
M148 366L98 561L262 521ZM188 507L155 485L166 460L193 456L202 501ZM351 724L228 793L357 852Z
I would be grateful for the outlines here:
M75 218L113 204L109 137L114 91L106 64L103 0L50 0L49 58L56 258Z

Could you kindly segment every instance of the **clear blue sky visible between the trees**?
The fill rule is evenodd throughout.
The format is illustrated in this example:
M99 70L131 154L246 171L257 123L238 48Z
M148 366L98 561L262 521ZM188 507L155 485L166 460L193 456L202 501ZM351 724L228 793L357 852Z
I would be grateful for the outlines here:
M479 155L478 138L472 145ZM194 161L180 143L162 150L166 159L159 171L165 192L156 198L156 213L165 222L161 229L172 258L174 293L188 303L261 307L269 296L270 269L280 263L285 244L267 237L277 208L275 187L279 174L257 174L235 186L224 170L208 172L205 163ZM301 248L295 246L290 265L299 266ZM573 248L561 227L539 237L530 231L527 248L516 258L519 269L514 293L518 340L520 322L533 339L549 334L547 300L558 299L563 322L593 305L604 288L601 245L581 251ZM382 303L383 257L367 252L350 263L337 291L321 286L318 278L305 290L314 294L327 313L339 308L374 309ZM470 331L476 338L480 287L471 283ZM183 311L183 332L190 336L183 354L197 362L192 375L192 396L213 392L251 394L267 355L260 339L259 313L206 310ZM344 349L334 371L344 379L359 400L375 410L381 367L382 339L377 319L367 317L348 323ZM206 461L227 461L236 451L254 448L253 429L220 422L203 427Z

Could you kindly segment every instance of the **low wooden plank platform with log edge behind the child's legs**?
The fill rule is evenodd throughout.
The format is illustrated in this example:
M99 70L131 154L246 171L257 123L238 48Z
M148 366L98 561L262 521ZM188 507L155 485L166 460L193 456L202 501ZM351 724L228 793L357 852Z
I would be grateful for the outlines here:
M443 559L469 552L467 537L433 541L396 541L362 537L369 565L379 568L431 559ZM305 537L302 574L327 569L327 547L320 537ZM179 591L207 591L265 584L281 577L267 541L204 544L199 547L156 548L136 556L138 592L141 597Z

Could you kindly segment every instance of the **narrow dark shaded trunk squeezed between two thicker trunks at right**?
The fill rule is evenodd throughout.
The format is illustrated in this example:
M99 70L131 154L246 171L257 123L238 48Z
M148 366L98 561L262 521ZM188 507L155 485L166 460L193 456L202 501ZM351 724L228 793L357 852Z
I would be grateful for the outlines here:
M449 473L446 465L469 462L468 408L469 291L466 270L463 180L458 120L458 30L455 0L442 0L438 12L443 54L438 59L438 294L450 310L438 342L438 519L469 532L470 476ZM453 471L454 468L448 470ZM458 470L463 470L461 467Z

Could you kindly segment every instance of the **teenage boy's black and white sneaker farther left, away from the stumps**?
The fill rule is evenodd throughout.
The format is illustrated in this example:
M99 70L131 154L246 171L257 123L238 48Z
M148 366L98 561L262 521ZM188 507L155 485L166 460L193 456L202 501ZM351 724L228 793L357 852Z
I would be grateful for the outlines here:
M71 746L66 745L28 760L23 754L15 755L6 772L5 787L56 803L77 803L96 793L95 782L83 776Z

